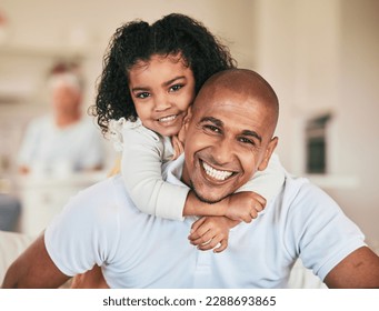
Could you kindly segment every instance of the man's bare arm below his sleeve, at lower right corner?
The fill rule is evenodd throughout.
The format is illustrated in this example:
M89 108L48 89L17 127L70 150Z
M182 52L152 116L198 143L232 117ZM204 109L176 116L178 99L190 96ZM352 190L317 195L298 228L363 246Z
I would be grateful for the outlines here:
M329 288L379 289L379 257L362 247L346 257L325 278Z

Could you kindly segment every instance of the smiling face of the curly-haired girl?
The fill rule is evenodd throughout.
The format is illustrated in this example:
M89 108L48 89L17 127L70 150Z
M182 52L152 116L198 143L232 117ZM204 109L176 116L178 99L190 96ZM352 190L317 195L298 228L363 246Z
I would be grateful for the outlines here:
M129 89L144 127L161 136L178 134L195 99L193 73L181 54L139 61L129 70Z

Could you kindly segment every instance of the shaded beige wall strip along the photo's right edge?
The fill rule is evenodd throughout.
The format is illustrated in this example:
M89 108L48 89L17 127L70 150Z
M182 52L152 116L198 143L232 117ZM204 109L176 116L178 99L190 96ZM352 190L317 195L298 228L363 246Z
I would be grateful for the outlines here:
M341 1L337 173L360 180L357 189L331 194L348 214L379 240L379 2Z

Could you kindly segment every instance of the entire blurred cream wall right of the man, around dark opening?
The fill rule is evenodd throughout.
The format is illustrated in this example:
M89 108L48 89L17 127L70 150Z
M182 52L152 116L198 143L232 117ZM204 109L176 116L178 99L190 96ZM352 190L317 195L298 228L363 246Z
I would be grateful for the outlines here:
M307 118L332 113L328 175L310 177L379 240L379 2L259 0L257 68L281 101L278 152L305 174Z

